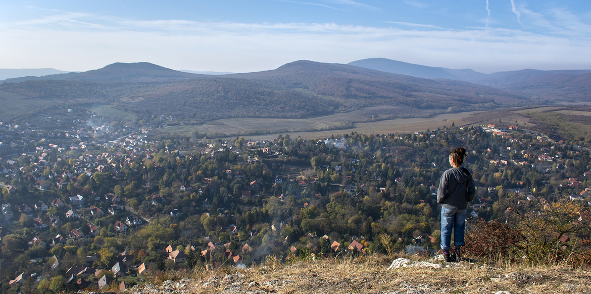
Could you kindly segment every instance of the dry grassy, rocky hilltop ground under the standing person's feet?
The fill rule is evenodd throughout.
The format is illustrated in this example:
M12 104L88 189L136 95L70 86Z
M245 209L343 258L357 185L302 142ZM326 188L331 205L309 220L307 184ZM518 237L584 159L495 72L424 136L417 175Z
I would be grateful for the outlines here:
M169 273L170 275L170 273ZM176 273L132 294L185 293L591 293L591 272L567 267L493 267L370 257L347 260L276 261L248 269Z

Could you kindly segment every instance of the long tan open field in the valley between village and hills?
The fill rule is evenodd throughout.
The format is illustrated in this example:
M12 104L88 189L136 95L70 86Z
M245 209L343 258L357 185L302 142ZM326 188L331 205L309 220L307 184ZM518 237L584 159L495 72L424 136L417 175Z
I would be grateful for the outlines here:
M366 109L365 109L366 110ZM358 112L340 113L336 115L315 117L313 119L221 119L210 122L203 126L174 126L165 128L168 133L180 133L189 135L191 130L196 129L200 133L246 133L252 130L268 130L268 133L261 135L245 135L250 139L264 140L277 138L279 133L288 133L292 137L320 138L332 134L350 132L358 133L402 133L421 132L427 129L443 128L443 126L460 126L462 117L471 115L474 112L445 113L430 118L409 118L409 119L388 119L376 122L353 123L349 129L316 130L310 132L294 132L295 130L319 129L327 126L345 124L353 120L366 120L366 116ZM377 116L376 116L377 117Z

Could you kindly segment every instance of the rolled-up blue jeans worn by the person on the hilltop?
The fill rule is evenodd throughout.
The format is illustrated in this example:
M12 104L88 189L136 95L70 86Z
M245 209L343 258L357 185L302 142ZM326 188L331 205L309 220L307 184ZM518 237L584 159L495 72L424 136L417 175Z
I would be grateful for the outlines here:
M456 210L441 207L441 249L450 250L452 242L454 246L464 246L464 229L466 228L467 210Z

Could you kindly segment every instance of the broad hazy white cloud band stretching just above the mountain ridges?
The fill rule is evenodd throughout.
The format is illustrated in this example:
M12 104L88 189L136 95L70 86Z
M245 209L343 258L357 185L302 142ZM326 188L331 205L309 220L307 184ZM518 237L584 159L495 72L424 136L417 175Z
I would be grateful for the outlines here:
M553 34L398 21L389 22L392 27L145 21L52 11L19 23L0 20L0 52L11 56L0 59L0 68L89 70L116 61L150 61L177 69L241 72L300 59L348 63L376 56L484 72L591 68L591 36L581 34L588 27L576 28L580 19L560 9L548 15L519 9L528 25L546 25ZM534 17L538 21L530 24Z

